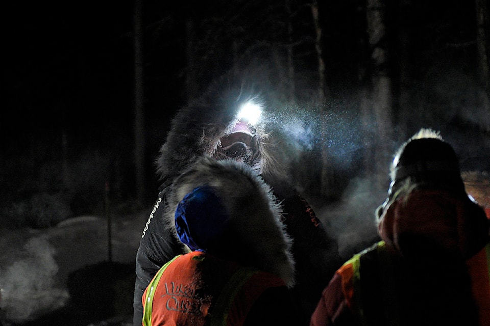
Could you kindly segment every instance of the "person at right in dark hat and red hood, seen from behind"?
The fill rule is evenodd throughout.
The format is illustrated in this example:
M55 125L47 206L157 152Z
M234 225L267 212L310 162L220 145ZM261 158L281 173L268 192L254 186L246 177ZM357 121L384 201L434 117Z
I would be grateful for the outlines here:
M382 241L337 270L311 326L490 325L488 220L438 132L397 151L377 224Z

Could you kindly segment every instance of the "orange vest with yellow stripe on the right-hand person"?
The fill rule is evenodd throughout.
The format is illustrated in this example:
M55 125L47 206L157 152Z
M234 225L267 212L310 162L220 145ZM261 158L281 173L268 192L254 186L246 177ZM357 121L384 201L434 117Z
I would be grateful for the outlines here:
M476 255L467 260L471 279L472 294L479 312L479 325L490 326L490 243L487 243ZM337 273L341 276L342 289L351 311L354 312L360 324L369 324L369 319L375 315L379 321L384 320L389 325L399 325L400 315L396 308L394 265L390 262L389 252L385 242L380 241L348 260ZM361 270L363 271L361 275ZM369 277L377 278L376 288L366 286ZM481 277L482 275L486 277ZM367 281L366 281L367 280ZM364 282L361 282L364 281ZM379 286L379 287L378 287ZM366 290L371 290L369 293ZM372 295L374 293L377 295ZM378 307L382 307L380 310ZM377 310L373 313L370 310ZM379 316L381 313L383 316ZM369 314L370 317L366 318ZM378 315L377 315L378 314Z

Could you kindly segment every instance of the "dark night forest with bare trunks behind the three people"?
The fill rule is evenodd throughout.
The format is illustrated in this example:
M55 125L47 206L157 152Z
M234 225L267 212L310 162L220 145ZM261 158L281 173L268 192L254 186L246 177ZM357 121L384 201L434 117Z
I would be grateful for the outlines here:
M0 216L46 227L151 205L171 117L218 76L263 90L314 203L442 131L488 163L488 1L13 2L0 113ZM282 119L282 120L281 120ZM294 122L291 124L291 122ZM465 166L466 167L466 166Z

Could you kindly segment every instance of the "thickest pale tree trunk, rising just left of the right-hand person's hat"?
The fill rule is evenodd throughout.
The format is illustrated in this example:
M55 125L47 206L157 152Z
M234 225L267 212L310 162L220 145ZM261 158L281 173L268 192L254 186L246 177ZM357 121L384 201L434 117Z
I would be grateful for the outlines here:
M392 83L388 71L388 40L386 37L386 0L367 0L367 33L372 46L372 110L375 117L375 174L384 181L387 175L393 142Z

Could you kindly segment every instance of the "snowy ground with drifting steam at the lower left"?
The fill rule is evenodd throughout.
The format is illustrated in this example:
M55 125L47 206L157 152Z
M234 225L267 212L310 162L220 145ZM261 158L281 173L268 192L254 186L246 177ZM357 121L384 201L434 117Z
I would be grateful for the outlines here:
M96 319L101 316L91 313L90 308L87 308L90 305L79 308L74 304L74 299L80 301L83 297L90 298L94 303L93 297L99 296L90 294L90 291L97 293L105 286L105 284L101 286L100 282L97 283L96 273L106 274L100 277L101 280L104 280L104 277L107 279L110 275L117 275L115 278L120 280L106 282L113 285L124 279L124 286L120 284L116 286L119 291L124 289L125 292L129 292L117 293L117 296L122 298L118 302L124 302L124 307L116 309L120 315L107 317L129 322L132 315L132 305L129 303L132 302L133 297L134 259L145 221L146 212L130 218L113 218L110 267L108 267L109 246L105 219L80 216L44 230L0 229L0 288L2 289L0 320L2 323L40 325L39 320L42 320L46 314L50 314L50 318L55 318L53 316L56 316L58 311L60 316L62 311L69 314L67 307L79 312L87 311L86 320L90 320L90 323L96 322ZM125 271L114 273L111 270L115 268ZM82 273L83 270L90 270L90 272ZM107 272L108 270L110 273ZM90 273L92 275L89 277ZM124 277L121 276L122 274ZM69 288L72 292L77 289L77 293L70 293ZM115 305L104 303L106 304ZM105 311L110 309L105 307ZM58 321L61 322L60 319L62 318L59 317ZM46 318L44 320L48 322ZM74 324L74 320L70 324Z

